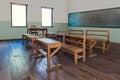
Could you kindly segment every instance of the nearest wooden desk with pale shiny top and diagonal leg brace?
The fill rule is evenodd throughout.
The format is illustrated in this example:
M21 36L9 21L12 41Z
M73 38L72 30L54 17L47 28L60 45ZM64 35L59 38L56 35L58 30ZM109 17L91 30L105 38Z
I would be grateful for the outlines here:
M39 50L40 53L42 53L45 57L47 57L47 69L46 69L47 72L52 71L53 69L61 66L61 64L55 64L55 66L50 65L50 61L52 60L52 57L61 48L60 42L50 38L39 38L39 39L36 39L36 45L40 46L40 47L37 47L36 50L37 51ZM46 55L44 54L45 51L43 51L43 49L41 48L43 46L47 47ZM54 49L54 51L51 51L51 49Z

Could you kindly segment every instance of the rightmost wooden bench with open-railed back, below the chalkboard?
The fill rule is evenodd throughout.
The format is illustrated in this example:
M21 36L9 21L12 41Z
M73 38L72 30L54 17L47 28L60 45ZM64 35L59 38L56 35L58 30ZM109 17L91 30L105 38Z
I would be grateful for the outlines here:
M86 37L97 40L95 48L102 49L103 53L109 52L110 33L108 30L86 30Z

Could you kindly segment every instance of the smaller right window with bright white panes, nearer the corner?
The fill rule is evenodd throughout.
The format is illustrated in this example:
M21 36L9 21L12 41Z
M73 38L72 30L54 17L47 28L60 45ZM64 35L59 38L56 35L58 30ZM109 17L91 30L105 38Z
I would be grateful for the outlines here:
M53 26L53 8L42 7L42 26Z

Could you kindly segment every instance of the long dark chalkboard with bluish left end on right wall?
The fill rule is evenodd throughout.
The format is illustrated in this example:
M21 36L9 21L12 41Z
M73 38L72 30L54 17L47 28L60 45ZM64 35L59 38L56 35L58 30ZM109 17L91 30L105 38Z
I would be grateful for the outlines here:
M68 13L68 26L120 28L120 7Z

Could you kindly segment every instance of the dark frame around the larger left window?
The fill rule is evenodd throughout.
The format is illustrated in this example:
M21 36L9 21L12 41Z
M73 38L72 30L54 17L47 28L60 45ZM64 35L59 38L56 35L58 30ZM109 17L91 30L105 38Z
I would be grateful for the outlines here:
M13 26L13 25L12 25L12 21L13 21L13 20L12 20L12 18L13 18L13 17L12 17L12 5L14 5L14 4L15 4L15 5L23 5L23 6L26 7L26 14L25 14L25 15L26 15L26 25L25 25L25 26ZM11 3L11 27L12 27L12 28L26 28L26 27L28 26L28 23L27 23L27 6L28 6L27 4Z

